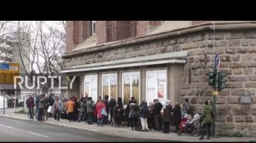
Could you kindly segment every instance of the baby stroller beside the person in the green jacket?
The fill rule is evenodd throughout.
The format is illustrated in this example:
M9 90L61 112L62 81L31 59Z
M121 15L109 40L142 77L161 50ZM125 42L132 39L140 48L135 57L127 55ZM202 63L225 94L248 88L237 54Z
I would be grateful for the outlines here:
M192 134L192 136L199 136L201 129L201 122L199 114L196 114L191 121L182 122L180 131L177 131L178 136L182 136L182 133Z

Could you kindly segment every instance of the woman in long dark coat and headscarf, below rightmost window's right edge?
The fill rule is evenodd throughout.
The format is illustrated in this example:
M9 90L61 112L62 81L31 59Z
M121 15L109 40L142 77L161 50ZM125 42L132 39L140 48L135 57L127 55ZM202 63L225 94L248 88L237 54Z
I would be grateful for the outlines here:
M169 100L166 101L165 105L163 106L163 116L162 120L164 121L164 130L163 133L168 134L170 131L170 121L172 115L172 105Z

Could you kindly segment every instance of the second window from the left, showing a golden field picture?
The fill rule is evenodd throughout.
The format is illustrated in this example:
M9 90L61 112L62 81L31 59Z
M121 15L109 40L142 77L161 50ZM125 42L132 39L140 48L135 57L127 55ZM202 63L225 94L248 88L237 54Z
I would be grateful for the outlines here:
M112 96L117 101L117 74L102 74L102 99L108 95L109 100Z

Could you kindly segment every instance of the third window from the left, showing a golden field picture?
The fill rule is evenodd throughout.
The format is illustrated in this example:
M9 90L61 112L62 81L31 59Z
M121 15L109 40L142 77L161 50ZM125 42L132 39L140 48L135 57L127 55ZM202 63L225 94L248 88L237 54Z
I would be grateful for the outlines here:
M140 72L124 72L122 75L122 99L127 105L131 96L140 102Z

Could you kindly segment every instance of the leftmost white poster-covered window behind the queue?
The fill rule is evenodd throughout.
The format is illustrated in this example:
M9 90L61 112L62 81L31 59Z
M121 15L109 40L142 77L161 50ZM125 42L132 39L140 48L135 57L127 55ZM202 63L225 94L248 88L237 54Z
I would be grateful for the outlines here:
M97 80L97 75L84 76L84 96L91 96L95 103L98 99Z

